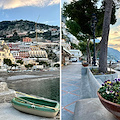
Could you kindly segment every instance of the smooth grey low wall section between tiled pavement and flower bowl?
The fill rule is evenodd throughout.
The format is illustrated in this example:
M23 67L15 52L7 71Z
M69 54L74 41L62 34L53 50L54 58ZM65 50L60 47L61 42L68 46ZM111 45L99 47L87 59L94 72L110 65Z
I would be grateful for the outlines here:
M101 87L101 84L94 75L91 73L88 67L82 68L82 78L80 83L80 99L96 98L97 90Z

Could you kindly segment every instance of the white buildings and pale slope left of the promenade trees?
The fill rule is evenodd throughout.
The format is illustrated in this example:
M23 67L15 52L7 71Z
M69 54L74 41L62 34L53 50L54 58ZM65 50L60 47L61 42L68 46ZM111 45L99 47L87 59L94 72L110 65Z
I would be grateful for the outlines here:
M77 49L73 49L71 43L78 45L79 41L75 36L73 36L70 32L67 31L67 27L65 25L66 18L62 16L62 32L66 38L62 38L61 46L62 46L62 66L67 65L70 62L79 62L82 57L82 52Z

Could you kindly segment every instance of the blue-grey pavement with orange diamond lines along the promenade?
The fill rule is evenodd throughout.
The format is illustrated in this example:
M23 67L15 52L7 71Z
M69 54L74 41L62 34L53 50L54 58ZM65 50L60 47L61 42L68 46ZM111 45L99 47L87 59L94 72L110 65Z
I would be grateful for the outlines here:
M72 63L62 68L62 119L73 120L75 103L79 100L81 64Z

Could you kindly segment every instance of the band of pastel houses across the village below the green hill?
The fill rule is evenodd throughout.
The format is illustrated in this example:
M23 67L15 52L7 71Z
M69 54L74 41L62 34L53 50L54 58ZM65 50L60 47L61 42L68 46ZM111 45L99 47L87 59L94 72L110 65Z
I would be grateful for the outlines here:
M45 61L52 63L48 59L46 49L49 47L54 48L53 51L59 56L58 46L59 43L42 43L32 42L29 37L23 38L22 42L7 42L0 40L0 66L4 65L4 58L10 59L13 64L16 64L17 60L23 60L24 65L33 64L38 65L36 61Z

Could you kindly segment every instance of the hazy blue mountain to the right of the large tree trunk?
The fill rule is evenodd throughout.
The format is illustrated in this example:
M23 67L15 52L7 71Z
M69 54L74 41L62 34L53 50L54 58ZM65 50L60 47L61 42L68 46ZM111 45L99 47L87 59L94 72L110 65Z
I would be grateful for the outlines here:
M108 59L120 60L120 52L108 47Z

